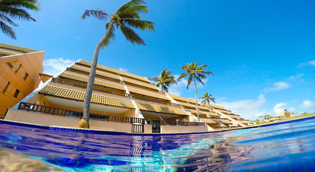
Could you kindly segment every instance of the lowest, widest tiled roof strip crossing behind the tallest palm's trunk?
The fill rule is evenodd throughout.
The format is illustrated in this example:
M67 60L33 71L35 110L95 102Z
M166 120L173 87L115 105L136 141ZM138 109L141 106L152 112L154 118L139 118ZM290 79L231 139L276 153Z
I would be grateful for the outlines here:
M62 97L66 99L73 99L84 101L85 93L70 89L63 89L59 87L54 87L47 85L42 90L39 91L41 94L47 94L56 97ZM125 107L125 108L135 108L131 101L123 100L123 99L116 99L112 97L106 97L101 95L92 94L91 103L98 103L103 105L111 105L111 106L118 106L118 107Z

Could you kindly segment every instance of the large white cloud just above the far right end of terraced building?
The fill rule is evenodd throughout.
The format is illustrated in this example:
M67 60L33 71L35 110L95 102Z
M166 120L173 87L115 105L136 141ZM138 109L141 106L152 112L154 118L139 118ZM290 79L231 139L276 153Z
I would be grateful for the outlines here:
M234 102L218 101L217 104L221 105L232 112L243 116L245 119L254 120L260 115L266 115L266 110L261 110L261 106L266 103L264 94L260 94L258 99L246 99Z

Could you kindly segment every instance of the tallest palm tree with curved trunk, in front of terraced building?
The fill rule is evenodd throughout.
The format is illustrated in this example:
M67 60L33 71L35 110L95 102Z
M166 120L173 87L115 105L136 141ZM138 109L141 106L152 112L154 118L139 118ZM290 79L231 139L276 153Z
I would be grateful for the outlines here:
M115 38L115 28L120 29L125 38L133 45L137 44L142 46L146 45L144 40L133 29L140 29L142 31L154 31L153 22L141 20L140 18L140 13L148 13L147 7L144 6L144 4L145 2L143 0L131 0L120 6L114 14L109 15L103 10L96 9L85 10L81 17L82 19L85 19L86 17L91 16L101 21L105 21L108 17L110 18L109 22L106 23L105 35L98 41L93 53L89 80L83 105L83 118L86 118L87 122L89 122L90 102L95 80L97 58L100 48L102 47L102 49L104 49L112 42L112 40Z

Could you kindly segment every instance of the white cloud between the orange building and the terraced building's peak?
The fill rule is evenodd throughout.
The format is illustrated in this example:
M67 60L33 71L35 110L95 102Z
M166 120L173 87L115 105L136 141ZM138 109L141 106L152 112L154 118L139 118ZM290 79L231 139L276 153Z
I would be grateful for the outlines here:
M74 61L63 58L44 60L43 66L45 70L43 73L55 75L62 70L66 70L66 67L70 66L72 63L74 63Z

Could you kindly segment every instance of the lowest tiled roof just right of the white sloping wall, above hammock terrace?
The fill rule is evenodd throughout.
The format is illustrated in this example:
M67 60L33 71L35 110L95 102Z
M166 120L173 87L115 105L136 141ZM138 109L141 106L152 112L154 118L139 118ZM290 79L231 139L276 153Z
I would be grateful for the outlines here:
M169 108L169 107L150 105L150 104L139 103L139 102L136 102L136 104L140 110L167 113L167 114L188 115L184 110L180 108Z

